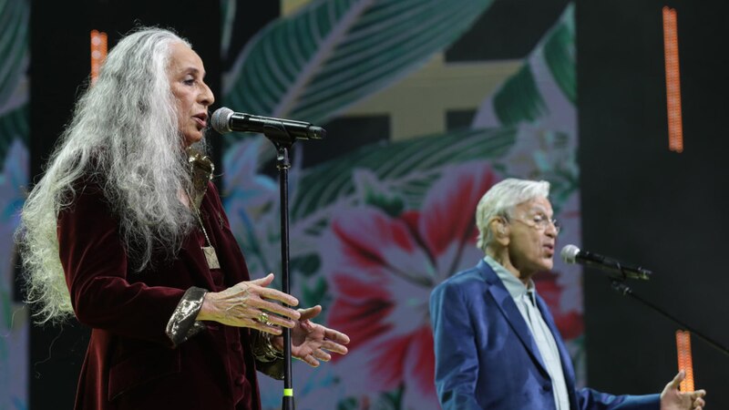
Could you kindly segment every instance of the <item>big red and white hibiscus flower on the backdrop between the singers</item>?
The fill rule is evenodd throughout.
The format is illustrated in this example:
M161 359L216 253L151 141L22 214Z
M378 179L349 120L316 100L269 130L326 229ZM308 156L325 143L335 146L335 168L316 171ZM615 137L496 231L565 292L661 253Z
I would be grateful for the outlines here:
M348 387L402 387L402 408L437 408L429 295L483 257L474 211L495 182L487 165L464 164L443 172L421 210L391 217L364 206L334 215L323 273L334 285L328 324L352 339L350 353L335 359Z

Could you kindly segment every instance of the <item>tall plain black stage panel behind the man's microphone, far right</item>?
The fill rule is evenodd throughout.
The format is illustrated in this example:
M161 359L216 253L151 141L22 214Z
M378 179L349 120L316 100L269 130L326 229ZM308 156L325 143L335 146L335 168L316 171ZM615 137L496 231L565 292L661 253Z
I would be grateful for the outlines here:
M678 14L684 152L669 151L662 6ZM581 2L577 10L584 249L642 264L642 298L729 345L725 27L729 4ZM657 393L677 371L679 326L586 270L589 385ZM697 387L729 408L729 357L693 336Z

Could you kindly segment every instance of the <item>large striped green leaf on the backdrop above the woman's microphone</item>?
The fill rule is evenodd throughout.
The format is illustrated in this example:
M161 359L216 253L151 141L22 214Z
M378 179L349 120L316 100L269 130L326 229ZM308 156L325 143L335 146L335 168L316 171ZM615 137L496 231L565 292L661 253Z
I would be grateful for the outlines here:
M241 53L224 103L323 122L456 40L492 0L328 0L266 26Z

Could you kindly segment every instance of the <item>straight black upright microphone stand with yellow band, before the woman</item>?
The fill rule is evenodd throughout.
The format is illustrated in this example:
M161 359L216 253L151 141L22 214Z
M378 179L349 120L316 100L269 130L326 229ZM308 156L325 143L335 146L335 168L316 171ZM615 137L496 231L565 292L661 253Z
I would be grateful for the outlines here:
M291 294L289 281L289 149L293 139L282 142L272 139L276 147L276 168L279 169L279 190L281 197L281 283L282 292ZM291 329L284 327L283 333L283 398L282 410L294 410L291 370Z

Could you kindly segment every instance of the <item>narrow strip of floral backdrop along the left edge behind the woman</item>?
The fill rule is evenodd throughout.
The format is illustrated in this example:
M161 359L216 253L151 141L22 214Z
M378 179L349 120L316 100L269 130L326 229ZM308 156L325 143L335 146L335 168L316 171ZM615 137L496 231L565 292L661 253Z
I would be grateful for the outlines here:
M0 0L0 408L27 408L26 311L13 302L13 231L27 185L28 105L24 81L29 61L30 2Z

